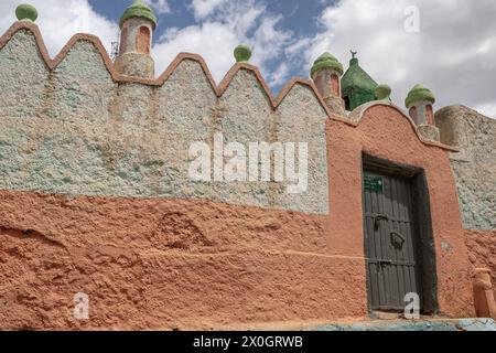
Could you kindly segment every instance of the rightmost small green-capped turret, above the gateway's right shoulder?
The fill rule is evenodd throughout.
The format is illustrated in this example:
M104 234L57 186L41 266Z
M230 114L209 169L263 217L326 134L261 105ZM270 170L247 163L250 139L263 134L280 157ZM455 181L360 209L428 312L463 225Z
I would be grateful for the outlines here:
M434 124L435 96L422 85L416 85L409 92L405 105L410 118L416 122L419 132L428 140L439 141L440 131Z

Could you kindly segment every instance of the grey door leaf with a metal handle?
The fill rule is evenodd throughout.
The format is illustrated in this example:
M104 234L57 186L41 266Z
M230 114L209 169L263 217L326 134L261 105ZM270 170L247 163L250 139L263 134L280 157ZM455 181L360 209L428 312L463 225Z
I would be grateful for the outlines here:
M364 229L368 298L373 310L405 309L405 296L419 293L417 234L409 179L365 171Z

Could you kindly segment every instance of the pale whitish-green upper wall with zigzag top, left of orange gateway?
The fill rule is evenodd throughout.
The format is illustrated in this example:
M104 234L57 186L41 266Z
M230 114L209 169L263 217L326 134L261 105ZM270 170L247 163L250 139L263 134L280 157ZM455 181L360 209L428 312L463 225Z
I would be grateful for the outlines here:
M182 61L161 86L116 84L97 47L78 41L53 69L19 30L0 52L0 188L57 194L206 199L328 213L325 118L294 85L277 109L257 75L239 69L220 98L200 63ZM21 101L21 104L20 104ZM193 142L308 142L309 188L201 183L188 176ZM77 159L74 158L77 156Z

